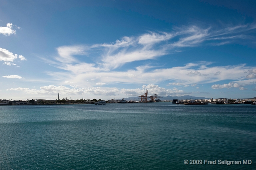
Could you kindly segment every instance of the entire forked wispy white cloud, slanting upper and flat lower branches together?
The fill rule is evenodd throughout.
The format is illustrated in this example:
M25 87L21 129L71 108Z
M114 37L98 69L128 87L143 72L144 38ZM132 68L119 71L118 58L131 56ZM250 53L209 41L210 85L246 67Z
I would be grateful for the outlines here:
M238 40L250 40L248 32L255 32L253 24L239 25L216 30L212 27L201 28L189 26L175 28L172 32L148 32L140 36L123 37L112 43L92 45L62 46L57 48L55 61L48 60L55 67L65 70L47 72L64 82L70 80L78 86L94 87L104 82L154 84L171 81L167 85L194 87L198 83L214 83L221 80L244 80L255 77L254 67L246 65L211 66L202 61L187 63L180 67L157 68L151 65L140 65L129 70L117 69L126 63L156 59L180 51L184 47L200 45L226 44ZM240 42L240 41L239 41ZM222 45L223 45L222 44ZM77 55L82 55L81 57ZM252 70L251 72L248 70ZM178 73L178 74L173 74ZM98 82L98 84L96 84ZM214 85L214 88L225 88L226 85Z

